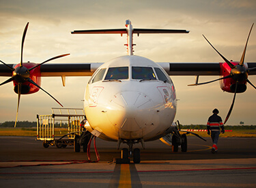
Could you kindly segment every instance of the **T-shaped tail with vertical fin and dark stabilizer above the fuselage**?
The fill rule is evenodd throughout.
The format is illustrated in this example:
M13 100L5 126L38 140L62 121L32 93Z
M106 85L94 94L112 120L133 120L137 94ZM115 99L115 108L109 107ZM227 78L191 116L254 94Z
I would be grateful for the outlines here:
M133 34L137 33L189 33L184 29L133 29L130 20L126 20L126 28L124 29L89 29L89 30L75 30L71 32L72 34L127 34L127 53L128 55L133 55Z

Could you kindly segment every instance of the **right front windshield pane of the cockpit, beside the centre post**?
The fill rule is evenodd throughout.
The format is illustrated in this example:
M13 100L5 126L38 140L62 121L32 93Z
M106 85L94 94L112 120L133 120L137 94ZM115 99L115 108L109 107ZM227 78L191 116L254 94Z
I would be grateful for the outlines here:
M155 80L153 69L151 67L132 66L132 79L152 79Z

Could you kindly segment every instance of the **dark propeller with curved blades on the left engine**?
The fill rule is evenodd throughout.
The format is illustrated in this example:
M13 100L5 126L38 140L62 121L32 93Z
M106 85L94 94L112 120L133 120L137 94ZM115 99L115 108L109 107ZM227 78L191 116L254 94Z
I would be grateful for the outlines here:
M11 81L16 81L17 83L17 94L18 94L18 105L17 105L17 113L16 113L16 120L15 120L15 124L14 127L16 127L16 123L17 123L17 118L18 118L18 109L19 109L19 105L20 105L20 95L21 95L21 91L22 91L22 87L23 87L23 83L25 82L29 82L32 85L35 85L36 87L40 88L42 91L46 92L44 89L42 89L40 87L40 85L38 85L37 83L35 83L31 78L30 78L30 71L33 70L34 68L37 68L38 66L41 66L42 64L45 64L46 62L50 62L53 59L58 59L60 57L64 57L66 55L70 55L69 53L67 54L63 54L63 55L57 55L55 57L52 57L51 59L47 59L46 61L42 62L41 64L38 64L36 66L33 66L32 68L27 68L25 66L23 66L23 46L24 46L24 42L25 42L25 37L26 37L26 33L27 33L27 28L29 27L29 23L27 23L24 31L23 31L23 39L21 42L21 57L20 57L20 64L19 66L17 66L16 68L12 68L10 66L8 66L8 64L5 64L4 62L2 62L0 60L0 62L2 64L4 64L5 66L7 66L10 70L12 70L12 77L6 81L4 81L3 83L0 84L4 85L5 83L9 83ZM59 103L59 101L54 98L51 94L49 94L48 92L46 92L46 94L48 94L48 96L51 96L51 98L53 98L59 105L61 105L61 103ZM63 105L61 105L61 107L63 107Z

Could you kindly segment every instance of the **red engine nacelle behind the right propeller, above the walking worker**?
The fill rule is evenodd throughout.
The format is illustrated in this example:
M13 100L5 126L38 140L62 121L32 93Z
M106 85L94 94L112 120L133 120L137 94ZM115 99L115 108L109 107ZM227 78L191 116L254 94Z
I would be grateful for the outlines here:
M231 62L231 64L236 66L239 64L239 62ZM220 66L221 66L221 77L226 77L230 75L231 68L229 67L228 64L223 63L223 64L220 64ZM246 65L244 64L244 66ZM238 88L236 92L237 93L245 92L247 88L246 83L247 83L246 80L238 81ZM234 93L236 90L236 81L232 78L222 79L220 80L220 86L221 86L221 90L225 92Z

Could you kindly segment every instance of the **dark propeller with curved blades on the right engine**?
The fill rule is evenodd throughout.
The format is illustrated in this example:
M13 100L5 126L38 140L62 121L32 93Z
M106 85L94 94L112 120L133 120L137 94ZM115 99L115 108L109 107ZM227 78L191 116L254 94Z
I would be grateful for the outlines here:
M254 23L253 23L253 25L254 25ZM229 108L229 112L227 113L227 116L225 118L224 124L229 119L229 116L230 116L231 111L233 109L233 105L234 105L235 100L236 100L236 93L238 92L238 82L239 81L246 81L247 83L249 83L256 90L255 85L253 85L253 83L251 83L251 81L248 80L248 72L250 70L255 69L255 68L246 68L246 66L244 66L244 57L245 57L245 53L246 53L246 48L247 48L248 40L249 40L249 37L251 35L251 31L253 29L253 25L251 26L251 29L250 29L250 31L248 33L248 37L247 37L247 40L246 40L246 44L245 44L244 51L242 53L242 57L240 59L240 62L236 66L231 64L231 62L229 62L229 60L227 60L221 53L219 53L214 48L214 46L209 42L209 40L203 35L203 38L205 38L205 40L210 44L210 46L212 46L212 48L216 51L216 53L218 53L218 55L220 55L223 58L223 60L228 64L228 66L231 68L230 75L227 75L226 77L221 77L219 79L215 79L215 80L212 80L212 81L207 81L207 82L203 82L203 83L195 83L195 84L188 85L188 86L203 85L203 84L207 84L207 83L212 83L214 81L218 81L218 80L222 80L222 79L229 79L229 78L231 78L234 81L236 81L236 86L235 86L234 95L233 95L233 101L231 103L231 107Z

